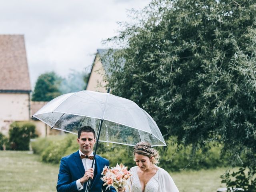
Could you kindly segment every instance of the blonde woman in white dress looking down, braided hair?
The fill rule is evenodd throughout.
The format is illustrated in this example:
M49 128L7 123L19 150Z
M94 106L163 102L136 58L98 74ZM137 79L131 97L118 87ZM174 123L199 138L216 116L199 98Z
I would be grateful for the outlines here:
M155 165L160 156L148 142L137 143L133 154L137 166L130 168L130 185L118 192L179 192L168 172Z

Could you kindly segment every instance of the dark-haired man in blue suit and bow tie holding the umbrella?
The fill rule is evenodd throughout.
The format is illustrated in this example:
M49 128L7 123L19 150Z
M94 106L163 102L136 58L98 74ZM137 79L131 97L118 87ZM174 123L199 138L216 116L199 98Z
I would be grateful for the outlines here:
M78 130L77 142L79 150L60 160L60 171L58 174L58 192L84 192L89 178L92 179L90 192L116 192L113 187L106 190L104 182L100 179L104 166L108 166L107 159L96 155L94 166L93 146L96 142L95 131L90 126L81 127Z

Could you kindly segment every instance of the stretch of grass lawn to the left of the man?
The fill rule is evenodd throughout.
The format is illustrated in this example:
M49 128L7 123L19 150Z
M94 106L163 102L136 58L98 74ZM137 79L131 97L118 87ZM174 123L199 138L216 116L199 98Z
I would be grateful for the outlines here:
M0 162L0 192L56 191L58 165L44 164L28 151L0 151Z

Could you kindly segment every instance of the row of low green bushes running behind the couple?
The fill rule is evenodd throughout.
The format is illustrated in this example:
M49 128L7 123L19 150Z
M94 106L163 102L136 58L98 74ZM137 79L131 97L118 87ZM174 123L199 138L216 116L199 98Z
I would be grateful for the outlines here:
M199 150L192 156L191 147L178 149L176 145L172 144L173 142L173 139L170 139L167 141L168 146L165 149L164 147L157 148L161 156L159 166L168 171L178 171L184 168L199 170L228 165L227 158L221 158L220 147L212 147L206 152ZM32 149L35 153L41 154L43 162L52 163L59 163L62 156L71 154L78 148L76 135L73 134L42 138L32 144ZM132 151L133 147L131 146L112 143L107 146L105 142L100 142L97 154L107 158L110 161L110 166L122 162L130 168L136 165Z

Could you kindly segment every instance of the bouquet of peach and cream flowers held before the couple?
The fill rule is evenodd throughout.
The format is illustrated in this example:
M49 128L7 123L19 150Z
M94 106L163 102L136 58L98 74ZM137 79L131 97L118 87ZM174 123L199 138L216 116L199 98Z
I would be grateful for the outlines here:
M105 183L103 185L108 185L106 190L110 187L122 187L127 185L127 181L130 178L131 174L127 170L127 167L122 163L120 165L116 164L115 167L109 168L105 166L101 173L103 177L101 178Z

